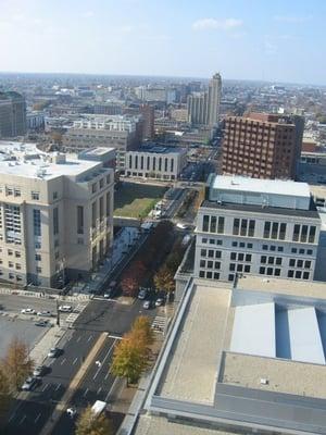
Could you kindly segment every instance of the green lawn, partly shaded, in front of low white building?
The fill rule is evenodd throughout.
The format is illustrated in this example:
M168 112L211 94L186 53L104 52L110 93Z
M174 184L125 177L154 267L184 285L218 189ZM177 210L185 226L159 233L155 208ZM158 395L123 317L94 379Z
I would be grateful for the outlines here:
M114 215L145 217L154 204L163 198L165 187L137 183L124 183L114 194Z

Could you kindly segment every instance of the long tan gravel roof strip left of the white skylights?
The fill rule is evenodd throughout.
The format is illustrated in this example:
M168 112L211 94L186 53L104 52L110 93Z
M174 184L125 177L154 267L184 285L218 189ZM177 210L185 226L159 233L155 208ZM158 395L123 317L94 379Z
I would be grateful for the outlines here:
M229 289L195 289L161 384L162 396L213 402L229 302Z

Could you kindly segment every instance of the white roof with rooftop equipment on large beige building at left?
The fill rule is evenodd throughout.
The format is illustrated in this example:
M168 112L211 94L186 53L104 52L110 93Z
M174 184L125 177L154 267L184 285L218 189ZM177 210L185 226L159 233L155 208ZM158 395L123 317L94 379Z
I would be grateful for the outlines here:
M65 161L54 163L58 153L43 152L36 144L0 141L0 175L17 177L52 179L62 175L77 176L91 169L99 162L78 160L64 154Z

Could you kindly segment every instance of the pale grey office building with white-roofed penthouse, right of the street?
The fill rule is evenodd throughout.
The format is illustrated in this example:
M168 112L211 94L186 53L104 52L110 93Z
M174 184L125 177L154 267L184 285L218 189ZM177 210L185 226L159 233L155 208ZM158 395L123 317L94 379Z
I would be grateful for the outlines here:
M195 276L312 281L319 229L308 184L212 175L197 217Z

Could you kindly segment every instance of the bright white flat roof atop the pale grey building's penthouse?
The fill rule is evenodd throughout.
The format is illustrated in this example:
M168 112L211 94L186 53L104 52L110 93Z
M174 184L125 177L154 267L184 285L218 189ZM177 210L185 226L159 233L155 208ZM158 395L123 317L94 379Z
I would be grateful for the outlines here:
M280 179L256 179L242 176L216 175L211 188L310 197L310 189L306 183Z

